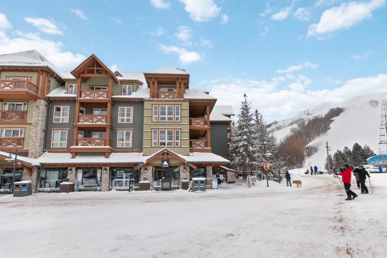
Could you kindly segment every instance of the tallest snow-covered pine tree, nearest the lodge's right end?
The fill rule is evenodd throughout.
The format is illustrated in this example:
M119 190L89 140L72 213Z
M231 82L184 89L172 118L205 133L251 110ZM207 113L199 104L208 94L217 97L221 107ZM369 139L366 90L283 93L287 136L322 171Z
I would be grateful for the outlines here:
M247 172L252 169L254 130L252 127L253 114L250 112L251 103L247 101L247 95L243 94L238 114L236 130L233 133L233 144L230 148L232 157L230 165L243 172L243 178L247 178Z

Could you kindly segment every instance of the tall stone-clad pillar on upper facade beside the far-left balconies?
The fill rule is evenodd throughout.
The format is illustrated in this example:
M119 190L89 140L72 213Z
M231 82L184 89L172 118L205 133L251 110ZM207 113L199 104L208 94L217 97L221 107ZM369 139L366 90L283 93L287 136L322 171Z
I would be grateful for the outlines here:
M46 101L37 100L34 103L34 112L29 140L29 158L38 158L43 153L47 107ZM49 134L48 134L49 135Z

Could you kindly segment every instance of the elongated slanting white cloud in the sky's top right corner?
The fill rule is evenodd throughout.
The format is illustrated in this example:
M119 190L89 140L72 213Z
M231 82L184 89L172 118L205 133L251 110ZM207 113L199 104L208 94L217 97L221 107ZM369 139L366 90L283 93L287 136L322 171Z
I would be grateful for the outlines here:
M338 7L332 7L322 13L319 23L309 26L308 36L325 35L351 28L364 19L371 18L372 11L384 5L385 0L372 0L342 3Z

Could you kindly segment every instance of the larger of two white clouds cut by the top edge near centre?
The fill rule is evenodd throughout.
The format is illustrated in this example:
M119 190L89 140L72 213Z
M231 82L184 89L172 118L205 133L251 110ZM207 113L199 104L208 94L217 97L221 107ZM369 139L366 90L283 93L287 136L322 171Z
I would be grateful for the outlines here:
M206 22L219 16L222 9L217 7L212 0L179 0L185 5L184 10L188 12L191 19L196 22Z

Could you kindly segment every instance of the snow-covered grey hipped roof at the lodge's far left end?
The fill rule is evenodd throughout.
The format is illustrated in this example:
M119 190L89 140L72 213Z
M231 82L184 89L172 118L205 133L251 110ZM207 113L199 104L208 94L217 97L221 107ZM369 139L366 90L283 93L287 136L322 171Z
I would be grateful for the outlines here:
M47 67L63 78L61 71L36 50L0 55L0 66Z

